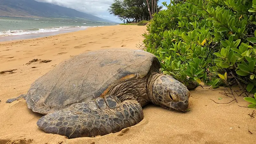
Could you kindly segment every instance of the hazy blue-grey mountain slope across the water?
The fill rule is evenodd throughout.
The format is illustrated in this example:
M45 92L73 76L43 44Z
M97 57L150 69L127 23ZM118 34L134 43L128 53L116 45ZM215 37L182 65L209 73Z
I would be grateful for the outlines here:
M78 12L74 9L55 4L41 3L35 0L0 0L0 16L73 19L83 18L93 21L116 23L96 17L92 14Z

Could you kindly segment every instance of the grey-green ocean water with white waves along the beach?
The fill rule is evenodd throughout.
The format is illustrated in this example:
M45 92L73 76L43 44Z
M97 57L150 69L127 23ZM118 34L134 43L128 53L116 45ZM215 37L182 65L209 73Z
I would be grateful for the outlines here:
M82 19L0 17L0 41L51 36L110 25L116 24Z

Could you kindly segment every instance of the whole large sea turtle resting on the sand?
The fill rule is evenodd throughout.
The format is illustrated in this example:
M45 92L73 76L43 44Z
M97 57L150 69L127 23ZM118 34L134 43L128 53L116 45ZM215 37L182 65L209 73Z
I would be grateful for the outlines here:
M159 70L156 56L142 50L85 52L61 62L31 84L27 94L6 103L24 98L28 108L45 115L37 126L47 133L106 135L139 123L142 107L150 102L187 110L188 88Z

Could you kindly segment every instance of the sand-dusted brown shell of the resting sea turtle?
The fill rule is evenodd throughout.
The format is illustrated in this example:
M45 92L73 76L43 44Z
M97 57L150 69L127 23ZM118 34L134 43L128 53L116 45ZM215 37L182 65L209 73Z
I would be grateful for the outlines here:
M74 103L104 97L111 88L148 73L159 73L155 55L125 48L85 52L61 62L38 78L26 102L34 112L48 114Z

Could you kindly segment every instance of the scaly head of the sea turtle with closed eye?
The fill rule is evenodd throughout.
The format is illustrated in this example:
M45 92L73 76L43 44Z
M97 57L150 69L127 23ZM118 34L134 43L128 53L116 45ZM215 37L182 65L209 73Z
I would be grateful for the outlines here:
M149 96L151 102L169 110L186 111L190 96L187 87L171 76L157 75L150 82L152 86Z

